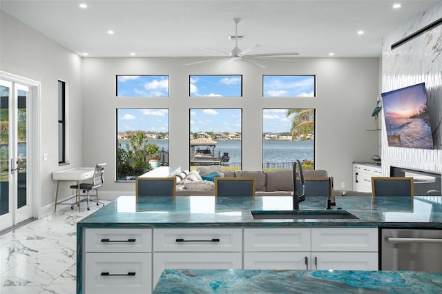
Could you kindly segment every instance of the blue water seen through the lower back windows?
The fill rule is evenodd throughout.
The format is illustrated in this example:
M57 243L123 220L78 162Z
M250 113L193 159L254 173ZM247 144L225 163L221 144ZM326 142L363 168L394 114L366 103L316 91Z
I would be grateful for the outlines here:
M169 140L149 140L160 146L160 150L169 150ZM126 146L126 141L121 141L122 146ZM241 141L227 140L217 141L215 153L229 153L230 164L241 163ZM247 150L242 150L242 153ZM295 159L314 160L314 141L263 141L262 142L263 162L292 162Z

